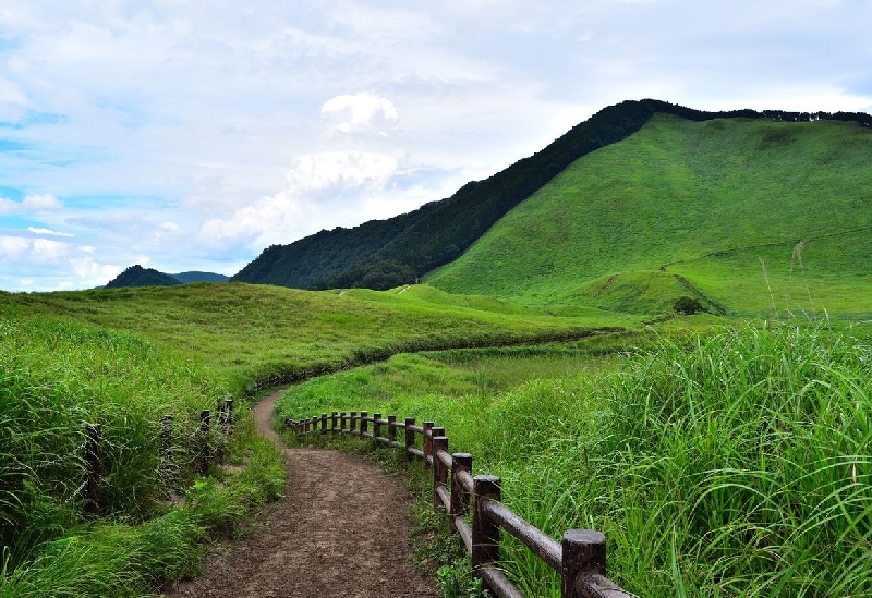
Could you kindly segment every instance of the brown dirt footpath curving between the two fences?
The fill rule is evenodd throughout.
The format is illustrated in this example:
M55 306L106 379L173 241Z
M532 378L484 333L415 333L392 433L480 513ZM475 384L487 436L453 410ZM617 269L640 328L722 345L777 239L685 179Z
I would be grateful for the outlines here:
M280 395L254 408L258 430L276 443L269 420ZM203 576L167 598L439 596L410 561L412 521L401 481L356 455L282 450L290 479L264 529L232 542Z

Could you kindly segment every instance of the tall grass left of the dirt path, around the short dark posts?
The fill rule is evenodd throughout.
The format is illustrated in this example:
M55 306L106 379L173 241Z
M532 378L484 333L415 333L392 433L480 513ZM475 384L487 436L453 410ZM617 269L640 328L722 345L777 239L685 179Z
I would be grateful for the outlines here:
M251 466L191 497L184 513L168 512L168 495L194 479L195 418L226 396L201 364L141 337L51 317L1 319L0 596L138 596L190 572L204 532L238 521L239 505L276 498L281 461L271 447L255 459L243 407L227 451ZM174 417L169 451L164 415ZM82 511L88 423L102 425L99 520ZM228 495L237 512L216 515L204 503Z

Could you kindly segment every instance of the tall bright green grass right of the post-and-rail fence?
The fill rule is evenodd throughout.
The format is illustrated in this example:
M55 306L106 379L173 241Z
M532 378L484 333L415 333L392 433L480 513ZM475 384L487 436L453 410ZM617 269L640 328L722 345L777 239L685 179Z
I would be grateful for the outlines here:
M869 596L870 364L847 334L723 329L493 392L452 390L463 369L414 394L396 363L356 374L380 401L353 406L444 425L534 525L603 530L610 576L641 596ZM283 404L352 406L322 383ZM506 553L528 595L558 595L544 564Z

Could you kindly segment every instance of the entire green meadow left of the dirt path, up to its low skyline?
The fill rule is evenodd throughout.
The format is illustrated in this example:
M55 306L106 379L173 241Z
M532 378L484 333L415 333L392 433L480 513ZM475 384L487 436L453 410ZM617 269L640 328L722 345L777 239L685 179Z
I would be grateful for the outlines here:
M211 538L243 533L281 496L282 462L249 411L265 388L403 351L601 337L634 321L414 294L246 284L0 293L0 596L143 596L194 574ZM211 450L233 467L205 477L199 412L228 396L234 434L213 437ZM92 423L102 426L99 517L82 496Z

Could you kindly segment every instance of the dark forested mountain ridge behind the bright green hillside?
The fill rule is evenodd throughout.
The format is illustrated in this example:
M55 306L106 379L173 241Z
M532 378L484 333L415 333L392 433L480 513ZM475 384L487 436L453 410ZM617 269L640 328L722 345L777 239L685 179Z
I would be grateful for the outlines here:
M467 183L447 199L387 220L324 230L289 245L272 245L231 280L313 290L384 290L414 282L459 257L497 220L572 162L635 133L657 112L692 121L748 118L872 123L872 117L863 113L703 112L659 100L628 100L601 110L533 156L486 180Z

